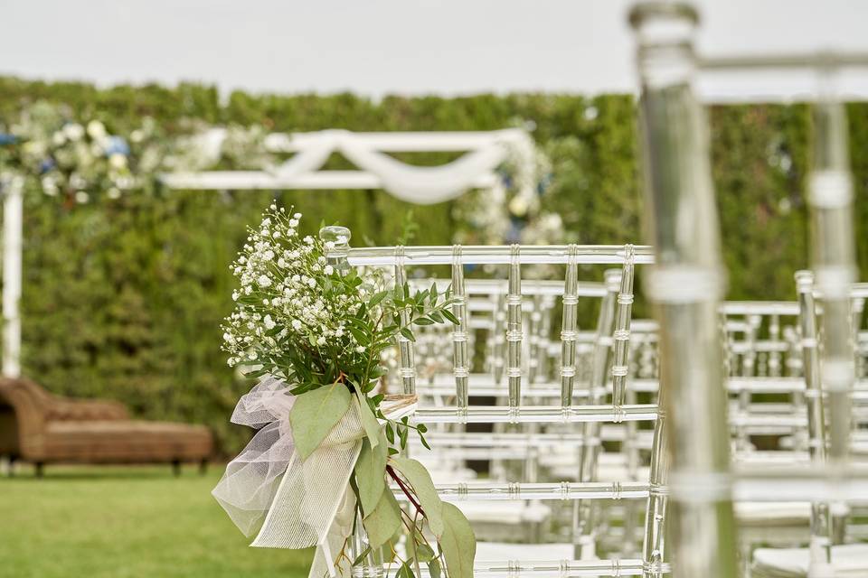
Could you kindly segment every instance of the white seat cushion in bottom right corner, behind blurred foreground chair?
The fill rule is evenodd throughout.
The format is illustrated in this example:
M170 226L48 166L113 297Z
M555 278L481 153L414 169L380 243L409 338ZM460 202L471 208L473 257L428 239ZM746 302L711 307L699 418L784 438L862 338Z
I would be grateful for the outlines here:
M807 548L760 548L753 553L754 578L807 578ZM868 544L832 546L835 578L868 576Z

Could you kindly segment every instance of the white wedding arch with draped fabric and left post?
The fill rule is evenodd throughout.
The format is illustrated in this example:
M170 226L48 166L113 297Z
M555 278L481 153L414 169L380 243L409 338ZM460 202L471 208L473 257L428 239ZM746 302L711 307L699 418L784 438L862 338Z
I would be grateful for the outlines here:
M201 147L206 162L220 158L225 129L215 128L190 141ZM533 172L533 140L521 128L487 132L353 133L325 130L271 134L265 147L274 154L293 154L285 163L256 171L169 172L160 180L171 189L212 191L250 189L346 190L383 189L417 204L455 199L471 189L501 186L497 168L509 161L516 172ZM390 153L464 152L439 166L415 166ZM330 171L322 167L332 154L342 154L357 167ZM3 375L21 374L21 313L24 179L0 180L3 211ZM531 179L518 175L520 186ZM533 183L535 186L535 183Z

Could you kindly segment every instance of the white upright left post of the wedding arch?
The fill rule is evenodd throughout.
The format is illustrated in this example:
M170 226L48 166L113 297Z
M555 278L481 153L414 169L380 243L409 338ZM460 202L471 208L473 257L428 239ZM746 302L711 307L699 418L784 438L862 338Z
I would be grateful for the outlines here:
M6 173L3 192L3 376L21 375L21 254L24 177Z

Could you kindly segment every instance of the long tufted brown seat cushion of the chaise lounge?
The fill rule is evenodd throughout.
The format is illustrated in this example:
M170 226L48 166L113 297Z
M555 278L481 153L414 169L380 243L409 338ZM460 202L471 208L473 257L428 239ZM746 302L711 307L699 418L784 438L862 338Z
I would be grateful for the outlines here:
M45 461L198 461L212 451L202 425L145 421L52 422L45 428Z

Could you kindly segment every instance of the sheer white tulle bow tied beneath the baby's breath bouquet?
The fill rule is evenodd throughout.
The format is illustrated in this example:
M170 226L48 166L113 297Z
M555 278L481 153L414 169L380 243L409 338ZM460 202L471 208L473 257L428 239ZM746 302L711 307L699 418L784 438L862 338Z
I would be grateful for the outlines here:
M232 414L234 424L259 429L244 451L226 466L212 495L251 545L307 548L316 545L309 578L350 575L345 558L336 560L353 532L355 495L349 487L365 435L355 403L302 460L289 425L295 397L278 378L266 377L241 396ZM414 399L392 404L388 415L400 417L415 409Z

